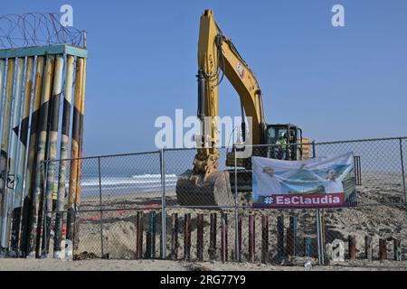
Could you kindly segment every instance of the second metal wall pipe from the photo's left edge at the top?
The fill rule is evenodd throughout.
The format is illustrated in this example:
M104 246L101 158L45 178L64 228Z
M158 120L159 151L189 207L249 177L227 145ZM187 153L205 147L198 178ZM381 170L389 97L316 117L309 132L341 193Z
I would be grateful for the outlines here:
M5 84L5 112L3 116L3 130L2 130L2 144L1 144L1 158L0 158L0 174L2 182L0 182L0 237L3 239L3 224L6 218L6 188L8 177L8 144L10 135L10 122L11 122L11 109L13 102L13 88L14 88L14 70L15 59L7 61L7 80ZM0 244L0 248L4 244Z

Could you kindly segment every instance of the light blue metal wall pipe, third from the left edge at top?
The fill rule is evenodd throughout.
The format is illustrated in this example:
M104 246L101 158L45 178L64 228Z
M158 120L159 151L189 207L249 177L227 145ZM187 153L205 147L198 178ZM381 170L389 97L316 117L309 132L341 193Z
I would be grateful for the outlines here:
M3 219L2 227L2 247L10 247L10 227L11 217L13 214L14 204L14 188L15 188L15 172L17 169L17 153L18 153L18 134L21 117L21 106L23 98L23 85L24 85L24 58L17 59L17 71L14 90L14 104L13 104L13 121L11 124L11 139L10 139L10 152L9 152L9 171L7 178L14 179L13 184L5 186L5 219ZM15 128L14 128L15 127ZM7 181L8 182L8 181Z

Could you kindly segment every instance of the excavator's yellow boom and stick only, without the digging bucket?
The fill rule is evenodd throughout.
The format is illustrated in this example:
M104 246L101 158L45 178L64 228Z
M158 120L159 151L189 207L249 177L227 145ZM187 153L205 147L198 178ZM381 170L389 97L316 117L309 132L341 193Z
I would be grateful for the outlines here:
M201 17L198 44L198 117L203 122L203 132L210 135L203 139L203 149L198 149L194 160L194 171L209 175L216 171L218 152L216 144L218 137L216 117L219 115L219 85L224 76L237 91L246 117L251 117L251 140L260 144L265 129L265 119L262 109L261 90L259 83L249 65L227 38L213 18L211 10L205 10ZM204 117L210 117L210 122L204 122Z

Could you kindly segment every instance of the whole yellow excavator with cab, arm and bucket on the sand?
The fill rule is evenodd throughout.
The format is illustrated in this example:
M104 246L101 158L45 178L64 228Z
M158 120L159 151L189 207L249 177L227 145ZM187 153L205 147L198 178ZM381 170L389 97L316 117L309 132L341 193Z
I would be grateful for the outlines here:
M252 144L282 144L274 147L254 146L253 155L291 161L309 158L308 145L301 145L308 144L309 141L302 137L302 130L298 126L266 123L259 83L231 39L222 33L213 18L212 10L205 10L201 17L198 66L198 117L202 123L203 135L196 139L198 149L194 157L194 169L181 175L176 184L176 196L180 205L234 204L230 177L233 173L218 171L220 158L217 149L218 99L219 85L224 77L229 79L240 97L241 114L251 119L249 134ZM243 140L246 138L245 132L246 124L243 121L241 124ZM233 167L236 161L239 167L245 168L239 171L243 176L241 179L246 180L242 186L251 186L251 159L236 160L233 153L228 154L226 159L227 166Z

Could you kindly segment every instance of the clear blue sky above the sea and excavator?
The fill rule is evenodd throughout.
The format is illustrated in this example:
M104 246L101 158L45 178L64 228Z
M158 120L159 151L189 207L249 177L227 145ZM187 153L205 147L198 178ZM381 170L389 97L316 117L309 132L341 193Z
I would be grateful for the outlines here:
M74 9L86 29L84 154L153 150L156 117L196 114L199 18L212 8L264 94L269 123L317 141L407 135L407 1L3 1L0 14ZM331 8L345 6L345 27ZM221 116L239 116L232 86Z

